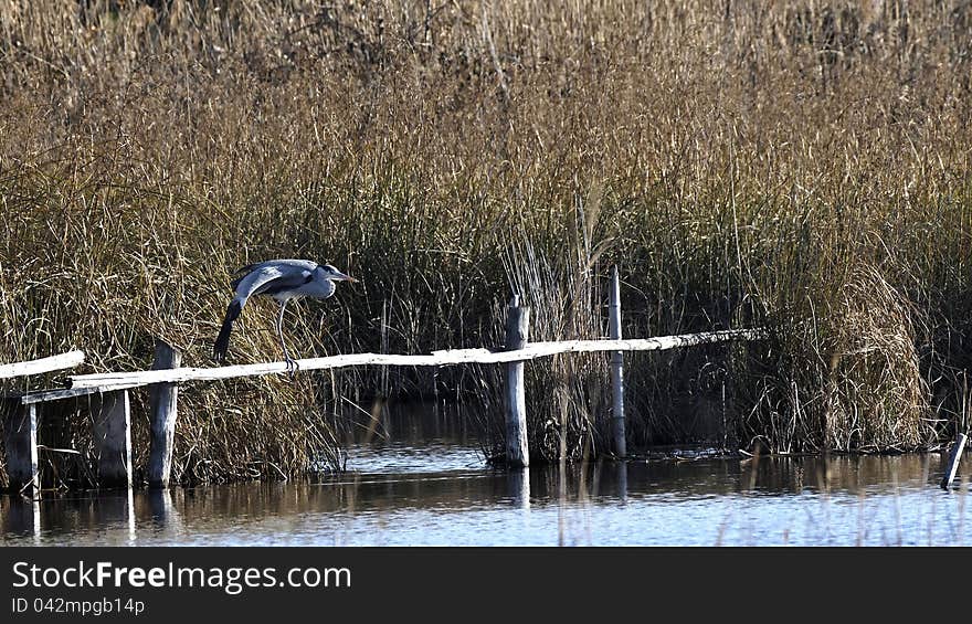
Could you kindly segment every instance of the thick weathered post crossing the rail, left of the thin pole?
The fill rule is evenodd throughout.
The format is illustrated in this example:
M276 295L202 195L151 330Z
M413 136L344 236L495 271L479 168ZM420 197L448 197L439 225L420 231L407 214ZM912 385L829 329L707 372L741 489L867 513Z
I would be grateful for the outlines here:
M506 322L506 350L522 349L529 335L530 308L520 307L519 295L514 295ZM506 462L517 468L530 465L522 360L506 364Z

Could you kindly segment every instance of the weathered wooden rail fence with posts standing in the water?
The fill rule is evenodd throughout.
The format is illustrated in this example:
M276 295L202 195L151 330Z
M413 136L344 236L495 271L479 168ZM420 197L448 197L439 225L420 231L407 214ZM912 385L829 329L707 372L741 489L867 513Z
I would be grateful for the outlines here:
M525 362L562 353L610 352L612 383L612 440L614 454L626 456L624 417L624 351L654 351L710 345L732 340L760 340L760 329L732 329L624 339L621 336L621 300L616 268L612 273L609 304L610 339L529 342L530 309L514 296L508 308L506 345L503 350L453 349L429 355L351 353L297 360L298 370L311 371L356 366L442 367L505 364L505 403L507 462L513 467L529 465ZM62 356L0 367L0 379L39 374L80 364L84 353L72 351ZM150 487L167 487L172 465L172 444L178 415L179 384L218 381L241 377L287 373L286 362L267 362L215 368L181 367L180 355L169 345L157 341L151 370L77 374L67 378L62 389L7 395L4 399L4 444L7 474L12 489L38 487L38 415L39 406L54 401L92 395L94 441L98 464L98 484L104 487L131 486L131 419L128 391L149 387L151 423L147 477Z

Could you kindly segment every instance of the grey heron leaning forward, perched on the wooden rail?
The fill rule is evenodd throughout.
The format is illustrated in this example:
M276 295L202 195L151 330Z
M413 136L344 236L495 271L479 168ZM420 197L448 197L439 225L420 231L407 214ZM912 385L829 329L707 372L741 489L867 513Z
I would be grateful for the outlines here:
M334 265L317 264L310 260L268 260L246 265L236 273L243 275L232 282L235 296L226 308L226 317L220 335L213 346L213 357L222 362L226 358L226 349L230 347L230 332L233 330L233 321L243 311L243 307L250 297L266 295L281 304L277 314L276 329L281 339L281 348L284 350L284 359L287 361L287 370L290 374L297 370L297 362L287 351L284 342L284 310L292 299L311 297L326 299L334 295L337 289L335 282L357 282L350 275L341 273Z

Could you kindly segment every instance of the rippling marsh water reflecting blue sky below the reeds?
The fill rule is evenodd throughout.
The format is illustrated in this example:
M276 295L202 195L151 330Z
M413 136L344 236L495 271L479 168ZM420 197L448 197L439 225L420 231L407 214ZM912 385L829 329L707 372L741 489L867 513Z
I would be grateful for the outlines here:
M443 414L352 437L320 483L0 497L8 544L972 544L972 462L939 454L600 463L490 469ZM362 438L367 438L364 442Z

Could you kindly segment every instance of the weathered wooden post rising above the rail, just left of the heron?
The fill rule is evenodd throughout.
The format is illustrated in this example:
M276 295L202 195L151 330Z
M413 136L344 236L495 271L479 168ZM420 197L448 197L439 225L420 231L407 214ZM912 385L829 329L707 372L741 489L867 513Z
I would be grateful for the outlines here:
M179 368L182 356L168 342L156 340L152 370ZM154 383L149 388L151 444L148 458L149 487L169 487L172 470L172 443L176 436L176 383Z

